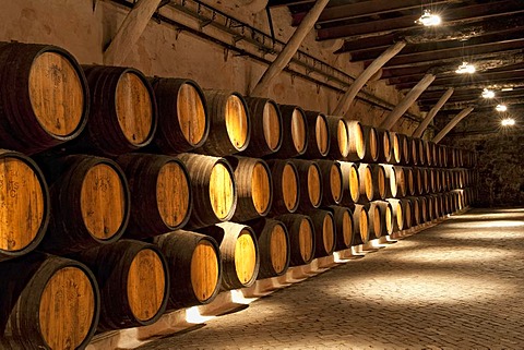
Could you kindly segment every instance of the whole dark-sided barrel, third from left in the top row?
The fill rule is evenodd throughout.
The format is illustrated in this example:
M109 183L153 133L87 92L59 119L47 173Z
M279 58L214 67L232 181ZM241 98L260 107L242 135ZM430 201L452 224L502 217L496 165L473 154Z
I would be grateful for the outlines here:
M155 77L151 84L158 105L155 144L167 155L202 146L210 133L210 117L204 93L196 82Z

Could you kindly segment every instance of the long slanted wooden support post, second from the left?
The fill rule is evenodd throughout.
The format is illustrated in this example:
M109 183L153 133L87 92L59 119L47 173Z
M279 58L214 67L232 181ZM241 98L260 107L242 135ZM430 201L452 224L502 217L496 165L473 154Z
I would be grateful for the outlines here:
M314 23L319 19L327 2L330 2L330 0L317 0L306 17L303 17L298 28L291 35L289 41L287 41L284 49L281 51L281 53L278 53L273 63L271 63L271 65L264 72L257 86L254 86L254 88L251 90L251 96L263 96L266 94L266 89L270 87L271 82L289 63L293 56L300 47L300 44L303 41L306 35L308 35L311 28L313 28Z

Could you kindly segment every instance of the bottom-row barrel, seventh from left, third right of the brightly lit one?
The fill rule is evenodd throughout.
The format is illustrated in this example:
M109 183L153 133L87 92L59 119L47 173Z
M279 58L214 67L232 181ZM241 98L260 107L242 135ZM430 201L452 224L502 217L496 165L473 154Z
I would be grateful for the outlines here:
M310 210L308 213L314 228L314 257L329 256L335 250L335 221L329 210Z

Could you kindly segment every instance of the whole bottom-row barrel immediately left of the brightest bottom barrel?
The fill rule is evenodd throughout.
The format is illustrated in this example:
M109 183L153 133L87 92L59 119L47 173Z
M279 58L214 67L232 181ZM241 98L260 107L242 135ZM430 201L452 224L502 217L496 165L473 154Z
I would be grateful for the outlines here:
M210 236L177 230L155 237L166 257L170 289L167 309L207 304L218 294L222 260Z

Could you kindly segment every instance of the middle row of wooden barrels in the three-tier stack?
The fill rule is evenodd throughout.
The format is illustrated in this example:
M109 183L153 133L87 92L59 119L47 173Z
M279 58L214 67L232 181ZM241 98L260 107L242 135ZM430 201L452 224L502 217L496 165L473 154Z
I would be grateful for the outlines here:
M181 228L438 193L471 183L466 169L326 159L264 161L187 153L126 154L116 160L43 156L35 162L9 150L0 159L0 261L38 244L45 252L68 254L122 234L145 239Z

